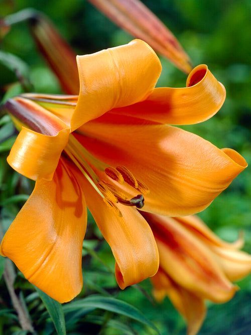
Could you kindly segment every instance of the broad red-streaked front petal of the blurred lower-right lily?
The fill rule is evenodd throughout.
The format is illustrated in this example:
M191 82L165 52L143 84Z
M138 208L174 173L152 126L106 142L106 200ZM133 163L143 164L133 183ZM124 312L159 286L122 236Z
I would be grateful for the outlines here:
M236 287L213 253L171 217L141 212L154 233L161 268L179 285L214 302L232 298Z

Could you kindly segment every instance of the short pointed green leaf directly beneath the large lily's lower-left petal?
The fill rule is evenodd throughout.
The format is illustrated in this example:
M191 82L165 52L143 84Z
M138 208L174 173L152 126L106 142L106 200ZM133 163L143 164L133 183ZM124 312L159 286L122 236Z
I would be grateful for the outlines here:
M55 325L58 335L66 335L65 319L62 305L56 300L49 297L46 293L41 291L36 286L35 288L38 291L41 300L45 304L48 313L50 314L50 317Z

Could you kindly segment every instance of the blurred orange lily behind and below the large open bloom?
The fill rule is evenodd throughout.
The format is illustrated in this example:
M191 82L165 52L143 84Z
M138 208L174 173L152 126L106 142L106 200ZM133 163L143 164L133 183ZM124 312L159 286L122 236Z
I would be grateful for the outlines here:
M142 212L154 233L160 268L151 278L158 301L168 296L188 323L187 333L200 329L205 299L222 303L238 289L231 282L251 272L251 256L240 251L243 241L219 239L195 215L164 217Z

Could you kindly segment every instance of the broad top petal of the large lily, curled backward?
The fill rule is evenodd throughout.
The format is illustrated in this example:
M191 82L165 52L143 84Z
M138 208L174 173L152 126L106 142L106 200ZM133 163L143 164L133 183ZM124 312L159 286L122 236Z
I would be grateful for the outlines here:
M114 107L147 98L161 73L152 48L141 40L77 56L80 93L71 126L77 129Z

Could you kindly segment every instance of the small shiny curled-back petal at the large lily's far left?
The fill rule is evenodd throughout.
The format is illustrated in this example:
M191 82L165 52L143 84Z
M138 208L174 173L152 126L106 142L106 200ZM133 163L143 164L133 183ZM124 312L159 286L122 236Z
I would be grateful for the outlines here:
M14 170L30 179L51 180L69 134L70 130L64 129L55 136L47 136L23 127L7 161Z

